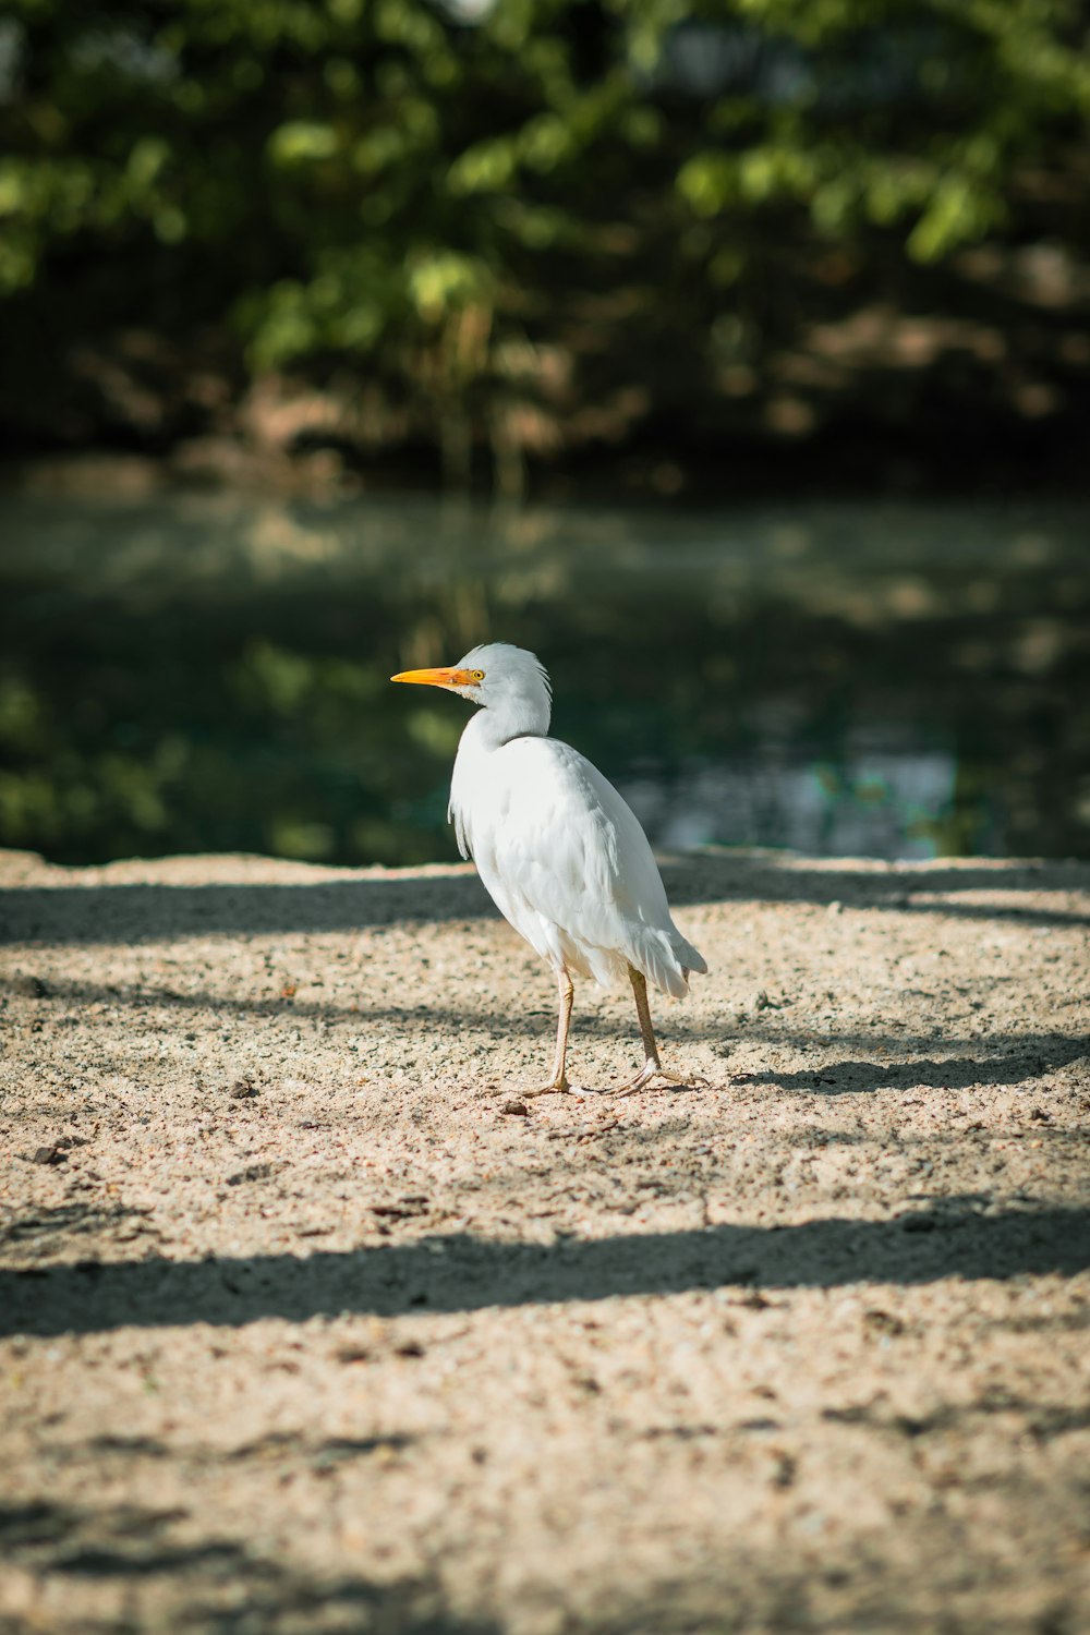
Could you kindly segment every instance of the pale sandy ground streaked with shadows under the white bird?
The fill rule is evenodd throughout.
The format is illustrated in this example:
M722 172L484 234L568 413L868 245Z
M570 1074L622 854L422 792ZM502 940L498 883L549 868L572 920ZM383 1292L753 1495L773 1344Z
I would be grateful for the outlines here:
M0 1630L1090 1628L1090 865L0 858ZM637 1064L577 992L574 1066Z

